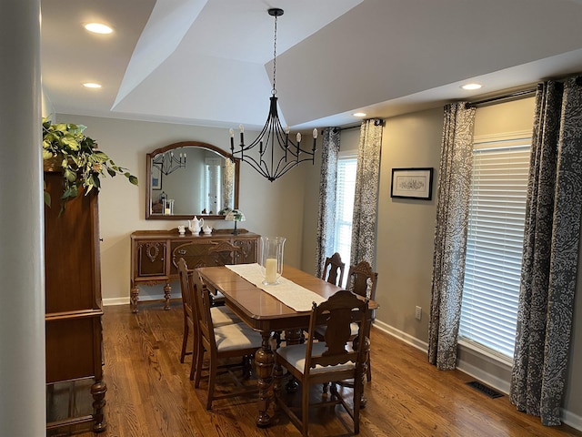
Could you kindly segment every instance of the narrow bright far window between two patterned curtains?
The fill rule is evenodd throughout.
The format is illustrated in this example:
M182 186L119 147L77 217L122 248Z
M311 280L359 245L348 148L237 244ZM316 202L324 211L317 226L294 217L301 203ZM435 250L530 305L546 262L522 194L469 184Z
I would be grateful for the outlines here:
M354 152L339 153L337 158L336 226L334 251L349 265L352 245L352 219L356 194L357 157ZM346 278L344 278L346 282ZM345 286L346 284L342 284Z

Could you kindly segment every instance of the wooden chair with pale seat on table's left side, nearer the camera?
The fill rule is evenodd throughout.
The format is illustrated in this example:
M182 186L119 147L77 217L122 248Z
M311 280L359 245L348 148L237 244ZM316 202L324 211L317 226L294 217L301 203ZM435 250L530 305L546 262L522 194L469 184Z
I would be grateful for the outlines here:
M213 308L210 301L210 292L204 286L200 274L196 270L193 274L194 282L194 308L197 314L197 333L200 341L198 341L198 349L195 351L196 363L193 361L193 369L195 371L194 386L199 388L200 380L202 379L202 371L208 372L208 394L206 396L206 410L212 408L212 402L218 399L226 399L233 396L239 396L245 393L252 393L258 391L258 387L245 387L244 384L236 377L235 368L242 370L242 377L245 378L250 373L250 360L247 357L252 357L255 352L261 348L263 338L261 334L252 330L245 323L231 323L223 326L216 326L212 317ZM202 363L205 352L208 355L208 367L203 369ZM242 362L240 364L219 365L218 361L240 357ZM216 377L218 371L226 371L229 374L238 390L223 392L223 394L215 394Z

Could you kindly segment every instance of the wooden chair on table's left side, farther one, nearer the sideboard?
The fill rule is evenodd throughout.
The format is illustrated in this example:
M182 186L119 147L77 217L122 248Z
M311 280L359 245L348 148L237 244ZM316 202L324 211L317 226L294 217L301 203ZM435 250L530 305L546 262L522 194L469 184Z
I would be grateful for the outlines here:
M182 307L184 309L184 333L182 336L182 351L180 353L180 362L184 362L186 355L192 355L192 351L186 351L188 337L192 331L193 351L197 351L197 343L199 336L197 335L196 327L196 311L194 310L194 290L193 290L193 273L186 266L186 260L181 258L178 260L178 278L180 279L180 290L182 291ZM213 307L211 310L212 320L215 326L229 325L232 323L242 323L236 314L227 307ZM196 357L192 358L192 362L196 361ZM194 366L190 369L190 380L194 379Z

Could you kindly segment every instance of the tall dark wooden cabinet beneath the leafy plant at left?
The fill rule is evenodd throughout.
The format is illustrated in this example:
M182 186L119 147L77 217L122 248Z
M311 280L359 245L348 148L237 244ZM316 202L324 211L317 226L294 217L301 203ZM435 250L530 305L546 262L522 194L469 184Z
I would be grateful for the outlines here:
M45 171L53 202L45 207L47 430L93 422L93 431L102 432L106 386L97 196L79 194L59 216L62 180L62 173ZM63 392L75 399L63 401ZM80 409L84 396L89 412ZM57 411L59 405L68 406L65 413Z

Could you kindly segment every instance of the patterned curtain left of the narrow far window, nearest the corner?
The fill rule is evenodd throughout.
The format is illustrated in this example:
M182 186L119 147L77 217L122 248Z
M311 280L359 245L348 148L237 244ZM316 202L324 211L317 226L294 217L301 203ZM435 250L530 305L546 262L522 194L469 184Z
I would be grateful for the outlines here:
M327 127L324 130L317 216L316 276L318 278L321 277L326 257L331 257L334 250L339 137L339 129L336 127Z

